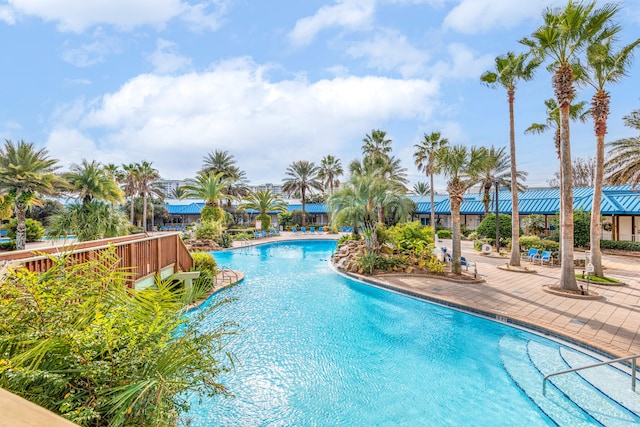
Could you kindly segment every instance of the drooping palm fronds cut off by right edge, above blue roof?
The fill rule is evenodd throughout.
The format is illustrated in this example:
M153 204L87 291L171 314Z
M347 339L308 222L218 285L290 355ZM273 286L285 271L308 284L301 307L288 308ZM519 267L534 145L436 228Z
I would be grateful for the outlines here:
M640 110L623 117L625 126L640 131ZM605 166L607 181L612 185L631 184L632 189L640 184L640 135L619 139L607 144L611 147Z

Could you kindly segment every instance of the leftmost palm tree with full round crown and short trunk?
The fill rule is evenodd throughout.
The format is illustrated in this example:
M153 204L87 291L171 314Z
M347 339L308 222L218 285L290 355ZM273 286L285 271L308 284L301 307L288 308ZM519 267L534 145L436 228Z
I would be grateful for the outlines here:
M27 208L38 203L38 196L52 196L66 183L54 172L58 160L49 157L46 149L36 150L33 143L6 140L0 148L0 194L7 194L14 203L18 225L16 249L26 246Z

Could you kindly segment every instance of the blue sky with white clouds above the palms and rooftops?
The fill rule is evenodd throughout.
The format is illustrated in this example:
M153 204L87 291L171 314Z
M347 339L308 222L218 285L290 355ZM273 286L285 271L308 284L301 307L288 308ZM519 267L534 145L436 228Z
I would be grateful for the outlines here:
M347 169L381 129L412 186L428 181L413 162L425 133L508 147L506 92L480 76L496 56L524 51L518 41L545 7L564 4L0 0L0 138L46 148L63 169L146 160L165 179L194 177L223 150L250 183L278 184L298 160L331 154ZM640 37L640 0L620 4L626 44ZM639 82L636 60L610 86L607 141L635 136L622 117L640 109ZM530 187L558 169L553 135L523 133L552 96L544 67L516 92L516 159ZM573 158L593 157L591 122L573 124L571 138ZM442 177L435 187L445 189Z

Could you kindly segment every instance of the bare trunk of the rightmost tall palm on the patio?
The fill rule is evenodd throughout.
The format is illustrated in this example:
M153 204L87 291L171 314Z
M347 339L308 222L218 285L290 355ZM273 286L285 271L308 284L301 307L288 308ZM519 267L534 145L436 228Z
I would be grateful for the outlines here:
M593 182L593 201L591 203L591 258L593 274L604 277L602 270L602 252L600 239L602 230L600 224L600 207L602 204L602 185L604 183L604 136L607 133L607 117L609 115L609 94L599 90L593 97L592 114L596 133L596 166Z

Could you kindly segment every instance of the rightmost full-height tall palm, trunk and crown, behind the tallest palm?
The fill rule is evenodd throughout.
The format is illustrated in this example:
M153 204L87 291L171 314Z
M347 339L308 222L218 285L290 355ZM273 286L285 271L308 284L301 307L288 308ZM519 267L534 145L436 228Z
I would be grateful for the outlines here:
M596 134L596 167L591 204L590 262L593 264L594 274L598 277L604 277L600 251L600 237L602 235L600 207L602 186L604 185L604 136L607 133L610 103L609 92L605 90L605 87L611 83L619 82L627 75L632 62L633 50L640 44L640 39L623 47L618 52L614 51L613 43L614 38L612 37L601 43L595 43L587 49L587 62L590 69L588 81L596 90L591 100L591 117Z

